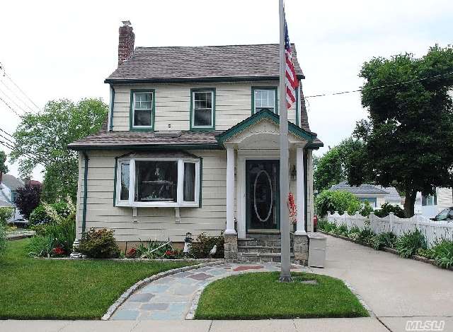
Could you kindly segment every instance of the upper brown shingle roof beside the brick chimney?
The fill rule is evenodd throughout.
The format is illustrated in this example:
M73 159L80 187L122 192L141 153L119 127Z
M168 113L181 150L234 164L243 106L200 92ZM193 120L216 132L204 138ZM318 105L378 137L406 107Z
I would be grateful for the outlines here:
M294 50L294 67L304 77ZM105 80L178 81L200 78L278 79L278 44L200 47L137 47Z

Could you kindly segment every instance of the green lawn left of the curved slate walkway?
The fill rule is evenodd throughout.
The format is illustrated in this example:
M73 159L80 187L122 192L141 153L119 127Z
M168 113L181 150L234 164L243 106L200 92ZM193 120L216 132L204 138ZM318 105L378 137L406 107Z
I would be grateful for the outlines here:
M28 241L10 242L0 258L0 319L100 319L137 281L189 265L32 259Z

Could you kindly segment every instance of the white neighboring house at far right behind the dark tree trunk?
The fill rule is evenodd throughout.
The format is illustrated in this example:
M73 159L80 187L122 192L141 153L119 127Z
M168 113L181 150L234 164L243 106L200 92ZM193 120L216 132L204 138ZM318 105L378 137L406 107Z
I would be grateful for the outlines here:
M453 206L453 195L451 188L436 188L434 195L423 195L417 193L415 198L415 213L421 213L426 218L432 218L444 208Z

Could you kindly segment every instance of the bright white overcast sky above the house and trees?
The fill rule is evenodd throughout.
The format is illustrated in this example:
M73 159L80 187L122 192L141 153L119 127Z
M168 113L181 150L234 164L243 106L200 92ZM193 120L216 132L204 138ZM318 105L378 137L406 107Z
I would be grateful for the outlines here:
M360 66L372 57L421 56L435 43L452 43L451 0L287 0L286 11L306 96L359 88ZM39 107L59 98L108 101L103 80L117 64L121 20L132 22L135 46L278 42L277 0L16 0L1 4L0 18L0 62ZM2 93L11 96L0 83ZM367 114L358 93L310 98L308 108L311 129L326 147L350 136ZM0 129L12 134L18 121L0 101ZM17 165L10 169L18 175ZM39 169L33 176L42 179Z

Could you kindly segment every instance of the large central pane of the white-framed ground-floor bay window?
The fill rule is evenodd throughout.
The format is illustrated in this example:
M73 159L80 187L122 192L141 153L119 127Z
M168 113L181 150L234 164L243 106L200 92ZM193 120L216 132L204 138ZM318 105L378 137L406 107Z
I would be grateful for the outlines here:
M135 197L138 202L176 202L178 162L136 161Z

